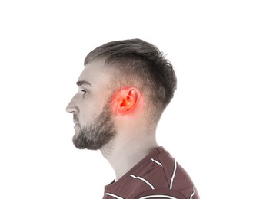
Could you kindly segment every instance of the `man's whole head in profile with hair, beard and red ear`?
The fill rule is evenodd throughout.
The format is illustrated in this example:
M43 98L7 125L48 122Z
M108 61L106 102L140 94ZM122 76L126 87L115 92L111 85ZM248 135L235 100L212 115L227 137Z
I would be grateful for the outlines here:
M132 119L156 126L174 95L176 76L157 47L133 39L91 51L77 84L79 91L67 107L76 124L73 142L99 149L117 134L117 118L122 126Z

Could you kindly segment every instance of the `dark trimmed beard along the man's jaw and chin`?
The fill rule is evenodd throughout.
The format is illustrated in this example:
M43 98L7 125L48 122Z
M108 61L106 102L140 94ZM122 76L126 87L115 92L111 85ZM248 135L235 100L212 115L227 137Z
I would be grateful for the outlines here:
M73 136L73 143L79 149L98 150L111 141L116 135L114 122L111 120L111 109L105 106L91 124L81 128Z

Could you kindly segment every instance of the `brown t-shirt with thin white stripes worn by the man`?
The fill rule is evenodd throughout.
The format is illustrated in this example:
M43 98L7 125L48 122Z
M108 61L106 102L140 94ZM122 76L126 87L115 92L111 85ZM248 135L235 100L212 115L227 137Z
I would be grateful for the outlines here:
M187 172L175 158L158 147L118 181L105 186L103 199L199 199Z

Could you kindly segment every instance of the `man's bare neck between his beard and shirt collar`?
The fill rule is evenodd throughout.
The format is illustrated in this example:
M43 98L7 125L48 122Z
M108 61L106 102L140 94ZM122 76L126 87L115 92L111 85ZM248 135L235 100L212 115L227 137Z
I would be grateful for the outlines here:
M125 138L117 136L115 140L101 148L101 153L114 169L115 181L118 181L156 147L158 144L155 141L155 133L126 136Z

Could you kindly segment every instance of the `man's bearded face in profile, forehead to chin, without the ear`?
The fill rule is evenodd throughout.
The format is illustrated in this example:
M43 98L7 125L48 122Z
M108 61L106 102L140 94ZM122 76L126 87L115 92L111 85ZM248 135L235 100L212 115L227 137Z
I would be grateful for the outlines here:
M73 114L76 148L97 150L115 136L111 113L110 76L102 60L92 61L78 78L78 93L71 99L67 112Z

